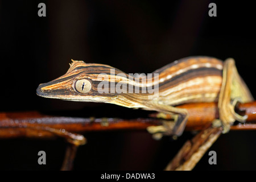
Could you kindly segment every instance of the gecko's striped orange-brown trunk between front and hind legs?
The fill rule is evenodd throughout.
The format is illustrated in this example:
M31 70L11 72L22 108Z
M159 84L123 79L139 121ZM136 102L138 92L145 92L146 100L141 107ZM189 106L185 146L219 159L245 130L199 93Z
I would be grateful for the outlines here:
M154 73L159 74L159 102L179 105L217 101L223 62L214 57L186 57Z

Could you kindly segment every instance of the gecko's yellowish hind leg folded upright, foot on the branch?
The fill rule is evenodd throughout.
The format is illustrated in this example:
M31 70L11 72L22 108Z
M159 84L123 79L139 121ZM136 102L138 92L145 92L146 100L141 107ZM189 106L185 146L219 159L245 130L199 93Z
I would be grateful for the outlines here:
M234 60L225 60L220 96L218 98L218 110L224 129L223 133L229 131L234 121L244 122L247 119L246 115L242 116L236 113L236 104L238 102L250 102L253 100L250 90L237 72Z

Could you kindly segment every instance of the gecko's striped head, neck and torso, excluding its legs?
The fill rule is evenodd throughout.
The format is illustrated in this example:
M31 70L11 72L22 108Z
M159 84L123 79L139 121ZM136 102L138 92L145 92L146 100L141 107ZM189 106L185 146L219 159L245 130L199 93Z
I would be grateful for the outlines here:
M159 74L158 96L153 98L165 105L179 105L189 102L213 102L217 101L222 82L223 63L211 57L191 57L174 61L154 73ZM115 75L110 74L110 69L114 69ZM86 64L83 61L73 61L68 72L46 84L40 84L37 93L39 96L48 98L60 98L63 100L81 102L109 102L126 107L144 107L148 101L148 93L99 93L98 84L102 81L99 74L106 74L111 82L123 82L141 89L147 85L139 84L136 80L129 79L129 75L119 71L119 69L103 64ZM124 76L117 76L123 73ZM79 93L75 89L75 81L81 78L88 78L92 81L92 89L85 94ZM152 86L150 84L150 86Z

